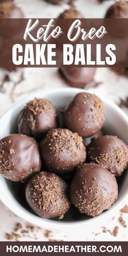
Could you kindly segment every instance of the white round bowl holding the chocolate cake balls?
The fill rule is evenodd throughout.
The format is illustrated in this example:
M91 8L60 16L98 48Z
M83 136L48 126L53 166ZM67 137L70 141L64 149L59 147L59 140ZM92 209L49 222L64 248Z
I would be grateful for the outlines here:
M64 108L69 102L71 97L79 92L85 90L77 88L62 88L53 89L50 91L42 91L40 93L35 93L30 95L30 97L22 100L20 103L16 104L10 110L4 114L0 120L0 139L4 136L14 133L16 131L17 117L25 104L35 97L43 97L52 101L52 103L57 108ZM117 135L119 138L123 139L125 143L128 144L128 117L126 114L120 110L118 106L108 101L107 99L102 99L105 105L106 121L104 128L107 134ZM0 176L0 199L5 204L5 206L10 209L15 215L20 216L23 220L32 223L33 225L46 228L46 229L57 229L63 231L70 231L73 229L78 231L78 229L83 229L84 227L94 227L101 224L105 220L108 220L114 215L117 210L121 209L127 201L127 191L128 191L128 174L123 174L119 185L119 195L117 201L113 204L110 210L103 212L97 217L85 216L84 219L79 220L69 220L67 218L63 221L58 220L48 220L43 219L29 210L29 208L24 208L17 196L17 189L15 183L5 180L4 177ZM68 215L67 215L68 216Z

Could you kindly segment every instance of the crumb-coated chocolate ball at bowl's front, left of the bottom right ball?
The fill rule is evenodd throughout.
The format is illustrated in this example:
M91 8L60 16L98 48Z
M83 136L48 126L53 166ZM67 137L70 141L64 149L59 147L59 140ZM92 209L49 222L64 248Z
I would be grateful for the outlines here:
M70 207L66 182L52 172L34 175L25 195L31 209L40 217L62 219Z

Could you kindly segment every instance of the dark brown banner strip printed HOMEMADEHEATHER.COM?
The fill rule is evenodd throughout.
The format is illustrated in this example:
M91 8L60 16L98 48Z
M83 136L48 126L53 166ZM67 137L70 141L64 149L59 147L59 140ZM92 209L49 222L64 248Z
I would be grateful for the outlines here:
M127 242L0 242L1 255L127 255Z

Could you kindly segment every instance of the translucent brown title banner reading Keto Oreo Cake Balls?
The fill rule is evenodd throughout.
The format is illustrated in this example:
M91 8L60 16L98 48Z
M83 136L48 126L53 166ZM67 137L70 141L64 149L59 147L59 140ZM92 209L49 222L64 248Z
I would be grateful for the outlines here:
M128 19L0 19L0 67L128 67Z

